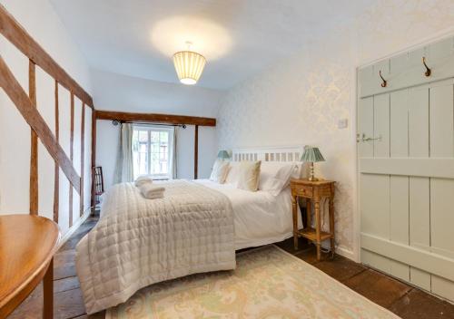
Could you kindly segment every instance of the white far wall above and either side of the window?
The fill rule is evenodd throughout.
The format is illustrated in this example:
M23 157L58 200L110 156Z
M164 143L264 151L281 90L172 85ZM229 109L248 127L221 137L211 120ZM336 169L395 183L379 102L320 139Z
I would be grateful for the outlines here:
M92 70L96 110L165 113L216 117L223 92L166 82L155 82L116 73ZM112 186L119 126L97 121L96 165L103 167L104 187ZM179 128L177 174L193 178L194 127ZM199 179L210 176L217 153L215 128L199 127Z

